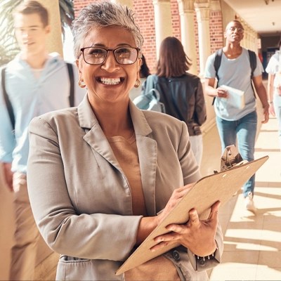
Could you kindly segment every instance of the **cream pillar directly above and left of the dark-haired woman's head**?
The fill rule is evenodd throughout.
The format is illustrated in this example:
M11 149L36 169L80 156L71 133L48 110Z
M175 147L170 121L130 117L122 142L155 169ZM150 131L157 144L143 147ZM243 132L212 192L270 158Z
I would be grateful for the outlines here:
M172 36L170 0L153 0L155 13L156 56L159 58L159 47L163 39Z

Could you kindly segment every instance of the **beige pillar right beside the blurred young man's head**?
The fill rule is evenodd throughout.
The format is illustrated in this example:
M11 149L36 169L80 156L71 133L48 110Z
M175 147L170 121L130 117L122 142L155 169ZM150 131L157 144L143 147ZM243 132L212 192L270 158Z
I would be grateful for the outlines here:
M25 0L28 1L28 0ZM47 40L48 52L57 52L63 56L63 38L60 25L60 6L58 0L37 0L47 10L49 16L49 23L51 25L51 33Z

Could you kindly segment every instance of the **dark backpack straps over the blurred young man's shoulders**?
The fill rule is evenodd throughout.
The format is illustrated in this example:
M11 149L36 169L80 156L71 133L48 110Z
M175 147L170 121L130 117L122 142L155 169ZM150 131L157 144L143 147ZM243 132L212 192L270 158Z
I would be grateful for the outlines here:
M74 106L74 75L73 75L73 67L71 63L66 63L67 64L67 71L70 77L70 107ZM1 68L1 86L3 90L3 95L4 95L4 100L6 103L6 107L8 109L8 115L11 119L11 124L13 127L13 130L15 130L15 115L13 113L13 107L11 105L11 101L8 98L8 94L6 92L6 85L5 85L5 70L6 70L6 65Z

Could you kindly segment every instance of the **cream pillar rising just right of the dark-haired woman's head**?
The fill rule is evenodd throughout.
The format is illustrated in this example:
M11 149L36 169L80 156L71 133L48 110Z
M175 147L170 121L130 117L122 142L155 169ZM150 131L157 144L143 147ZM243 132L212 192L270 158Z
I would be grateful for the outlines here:
M178 11L181 17L181 43L188 58L192 60L189 72L197 75L194 0L178 0Z

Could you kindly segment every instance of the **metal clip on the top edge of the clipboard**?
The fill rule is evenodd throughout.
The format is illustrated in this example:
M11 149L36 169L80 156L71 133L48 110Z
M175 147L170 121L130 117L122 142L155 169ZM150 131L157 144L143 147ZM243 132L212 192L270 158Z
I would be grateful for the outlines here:
M228 145L221 155L221 171L227 171L233 166L240 166L247 163L247 160L243 160L235 145ZM214 174L218 171L214 171Z

